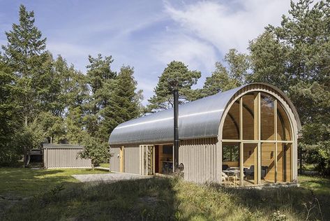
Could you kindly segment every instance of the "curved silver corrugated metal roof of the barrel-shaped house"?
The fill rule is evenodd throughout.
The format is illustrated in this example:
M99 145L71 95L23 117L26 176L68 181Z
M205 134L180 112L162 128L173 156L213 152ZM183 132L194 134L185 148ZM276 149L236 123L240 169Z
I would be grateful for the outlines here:
M261 84L272 87L280 92L286 100L289 100L278 88L265 83ZM220 120L225 107L234 94L246 86L248 85L180 105L179 139L218 136ZM119 124L112 131L109 143L172 141L173 133L173 109L170 108Z

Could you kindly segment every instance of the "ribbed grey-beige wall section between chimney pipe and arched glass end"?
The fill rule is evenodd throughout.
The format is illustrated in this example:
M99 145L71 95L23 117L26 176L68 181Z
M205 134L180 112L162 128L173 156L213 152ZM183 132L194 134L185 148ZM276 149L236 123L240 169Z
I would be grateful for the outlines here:
M184 166L184 179L197 182L216 182L217 138L197 138L181 141L179 164Z

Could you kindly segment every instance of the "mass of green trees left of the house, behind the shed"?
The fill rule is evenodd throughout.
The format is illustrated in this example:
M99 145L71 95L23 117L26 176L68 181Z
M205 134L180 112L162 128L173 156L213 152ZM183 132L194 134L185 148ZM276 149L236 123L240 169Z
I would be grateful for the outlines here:
M112 129L143 112L133 68L123 67L117 76L111 56L89 55L84 75L61 55L53 59L34 23L33 11L21 5L19 22L1 47L0 164L24 153L27 166L29 150L45 138L100 148L87 154L97 164L101 154L109 157L105 144Z

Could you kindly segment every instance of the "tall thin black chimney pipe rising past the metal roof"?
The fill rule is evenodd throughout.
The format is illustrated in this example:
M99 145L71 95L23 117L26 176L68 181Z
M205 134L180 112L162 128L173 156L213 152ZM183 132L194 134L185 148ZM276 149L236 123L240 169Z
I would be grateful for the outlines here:
M173 90L174 97L174 171L179 166L179 91Z

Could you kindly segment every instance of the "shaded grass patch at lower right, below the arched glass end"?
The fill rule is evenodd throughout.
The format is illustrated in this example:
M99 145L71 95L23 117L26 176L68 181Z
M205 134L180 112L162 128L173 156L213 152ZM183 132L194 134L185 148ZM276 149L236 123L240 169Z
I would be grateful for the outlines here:
M330 193L315 194L302 187L263 187L250 188L222 188L230 194L237 205L248 208L248 211L267 211L270 217L280 214L295 214L299 219L330 220ZM310 210L308 212L308 210ZM308 215L309 213L309 215ZM297 218L297 216L295 217Z

